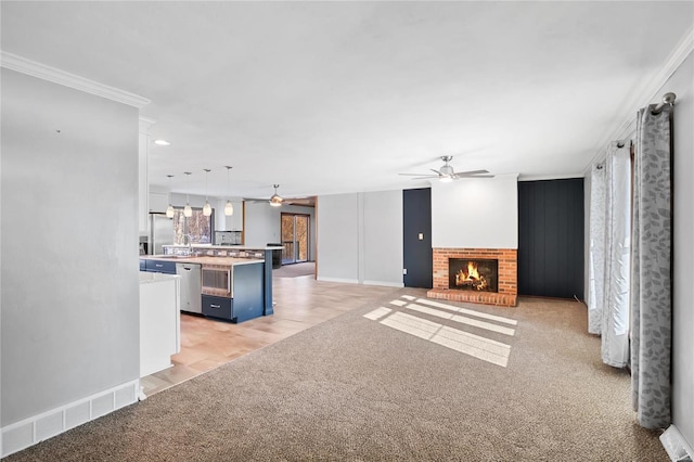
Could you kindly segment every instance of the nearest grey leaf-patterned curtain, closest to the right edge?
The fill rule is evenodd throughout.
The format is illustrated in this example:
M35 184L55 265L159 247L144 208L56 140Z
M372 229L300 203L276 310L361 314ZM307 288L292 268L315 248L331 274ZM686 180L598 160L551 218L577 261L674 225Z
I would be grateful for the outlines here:
M631 390L639 423L670 424L671 106L639 111L634 157Z

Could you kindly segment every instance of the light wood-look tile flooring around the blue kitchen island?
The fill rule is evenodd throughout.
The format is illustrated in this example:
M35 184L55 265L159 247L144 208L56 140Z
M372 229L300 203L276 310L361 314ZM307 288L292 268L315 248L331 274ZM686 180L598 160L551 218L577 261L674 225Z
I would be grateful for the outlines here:
M185 382L256 349L398 291L375 285L273 278L274 315L240 324L181 313L181 352L172 368L140 380L146 396Z

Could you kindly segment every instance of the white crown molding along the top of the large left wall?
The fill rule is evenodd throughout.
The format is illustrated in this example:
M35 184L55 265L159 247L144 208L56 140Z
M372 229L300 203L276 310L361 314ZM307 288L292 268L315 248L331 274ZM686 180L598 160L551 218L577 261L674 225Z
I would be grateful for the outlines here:
M141 108L151 102L146 98L142 98L134 93L99 84L98 81L1 50L0 67L38 77L43 80L52 81L54 84L63 85L65 87L74 88L86 93L95 94L97 97L106 98L138 108Z

